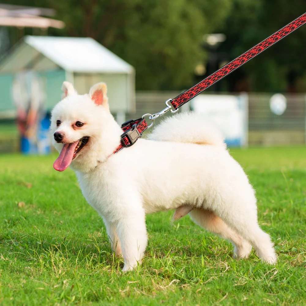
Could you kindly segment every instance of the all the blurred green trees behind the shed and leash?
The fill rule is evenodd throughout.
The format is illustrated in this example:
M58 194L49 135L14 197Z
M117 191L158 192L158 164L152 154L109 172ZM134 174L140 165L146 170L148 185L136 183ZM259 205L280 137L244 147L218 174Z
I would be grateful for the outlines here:
M7 3L42 6L40 0ZM136 68L138 90L188 88L306 7L305 0L46 0L43 6L66 23L63 30L50 28L49 35L96 39ZM205 42L210 33L223 33L226 41L210 47ZM306 26L211 90L306 91L305 41Z

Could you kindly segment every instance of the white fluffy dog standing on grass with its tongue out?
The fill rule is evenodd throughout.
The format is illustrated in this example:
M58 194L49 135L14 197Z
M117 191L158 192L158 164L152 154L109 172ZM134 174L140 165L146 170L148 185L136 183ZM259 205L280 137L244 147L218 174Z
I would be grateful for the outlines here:
M189 213L203 228L228 239L234 257L246 258L252 246L263 261L276 254L257 222L254 190L229 155L222 136L187 113L163 121L132 147L112 154L121 127L110 114L106 85L77 95L63 83L52 111L50 130L60 152L54 169L70 164L88 203L102 216L111 247L123 255L123 271L141 263L147 246L145 215L174 209L174 219Z

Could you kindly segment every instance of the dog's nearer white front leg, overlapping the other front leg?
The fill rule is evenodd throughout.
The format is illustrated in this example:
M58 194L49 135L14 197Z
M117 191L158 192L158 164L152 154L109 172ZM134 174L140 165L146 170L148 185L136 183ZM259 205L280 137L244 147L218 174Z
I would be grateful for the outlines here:
M141 264L147 247L147 229L144 210L130 210L121 220L118 220L117 233L121 242L124 259L123 272L132 270Z

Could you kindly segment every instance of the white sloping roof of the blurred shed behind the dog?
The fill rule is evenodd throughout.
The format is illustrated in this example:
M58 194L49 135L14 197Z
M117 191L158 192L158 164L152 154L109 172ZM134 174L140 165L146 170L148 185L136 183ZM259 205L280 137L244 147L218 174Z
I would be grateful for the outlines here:
M25 36L24 41L10 55L8 61L0 63L0 72L9 72L9 62L14 62L13 57L22 57L28 52L28 45L38 51L43 57L48 58L56 65L69 72L80 73L133 73L134 68L119 58L110 50L103 47L92 38L80 37L52 37L52 36ZM29 58L24 54L24 58ZM34 55L33 55L34 57ZM29 59L31 60L31 59ZM34 60L34 58L33 58ZM15 65L16 66L16 62ZM24 67L20 67L23 69ZM15 70L16 67L14 67ZM13 71L12 71L13 72Z

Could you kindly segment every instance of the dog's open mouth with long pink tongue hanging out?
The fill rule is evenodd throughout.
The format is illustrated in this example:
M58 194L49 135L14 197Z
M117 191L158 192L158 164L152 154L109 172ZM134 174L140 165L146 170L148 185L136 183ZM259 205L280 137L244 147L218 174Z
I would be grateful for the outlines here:
M73 159L76 158L76 155L83 149L85 144L87 144L88 140L89 137L84 136L71 144L63 144L62 151L54 162L53 168L57 171L66 170Z

